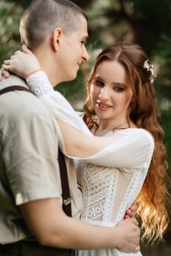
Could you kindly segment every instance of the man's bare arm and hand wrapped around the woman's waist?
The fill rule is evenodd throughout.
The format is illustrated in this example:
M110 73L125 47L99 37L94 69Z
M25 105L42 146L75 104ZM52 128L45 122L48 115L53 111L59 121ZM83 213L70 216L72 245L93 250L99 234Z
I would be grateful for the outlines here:
M140 228L134 218L117 227L97 227L67 217L58 198L34 200L20 206L30 232L39 244L69 249L117 247L124 252L140 249Z

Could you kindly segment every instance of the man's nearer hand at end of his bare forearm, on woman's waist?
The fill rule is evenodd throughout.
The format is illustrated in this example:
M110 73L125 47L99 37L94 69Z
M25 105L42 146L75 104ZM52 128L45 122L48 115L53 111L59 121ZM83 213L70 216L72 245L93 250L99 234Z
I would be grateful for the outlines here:
M140 227L138 227L137 219L129 218L119 222L118 238L121 241L118 249L121 252L138 252L140 251Z

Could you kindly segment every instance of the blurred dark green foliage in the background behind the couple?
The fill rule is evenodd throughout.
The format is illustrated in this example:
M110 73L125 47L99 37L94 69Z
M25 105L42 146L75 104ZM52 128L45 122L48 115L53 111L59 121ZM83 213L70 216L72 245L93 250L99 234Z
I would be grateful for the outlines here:
M0 63L20 48L20 15L30 0L0 0ZM88 52L77 80L58 86L78 110L86 97L88 72L99 49L113 42L135 42L148 53L156 72L156 102L171 167L171 1L170 0L75 0L88 15ZM170 241L167 235L167 241ZM148 252L148 249L145 251ZM171 254L169 252L169 254ZM168 255L169 255L168 254ZM151 252L148 255L154 256ZM166 253L167 255L167 253Z

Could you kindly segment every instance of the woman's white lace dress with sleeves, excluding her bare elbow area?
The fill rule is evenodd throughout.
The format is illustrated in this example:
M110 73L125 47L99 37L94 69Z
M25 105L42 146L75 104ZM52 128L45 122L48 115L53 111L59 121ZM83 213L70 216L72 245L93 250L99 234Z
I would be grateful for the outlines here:
M27 83L54 116L92 136L69 102L57 91L53 91L44 72L31 75L27 78ZM83 189L82 221L91 225L112 227L123 219L126 209L140 192L151 163L154 143L152 136L144 129L121 129L105 136L118 136L119 140L90 157L75 158L75 168L78 182ZM59 143L64 152L62 136ZM96 249L79 250L77 254L140 256L141 252Z

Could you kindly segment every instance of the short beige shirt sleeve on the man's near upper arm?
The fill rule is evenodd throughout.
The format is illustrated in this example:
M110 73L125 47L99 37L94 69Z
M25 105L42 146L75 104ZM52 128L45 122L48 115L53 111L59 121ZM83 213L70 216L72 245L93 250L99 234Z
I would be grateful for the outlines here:
M34 111L18 118L7 141L4 159L15 203L61 197L58 135L50 116Z

